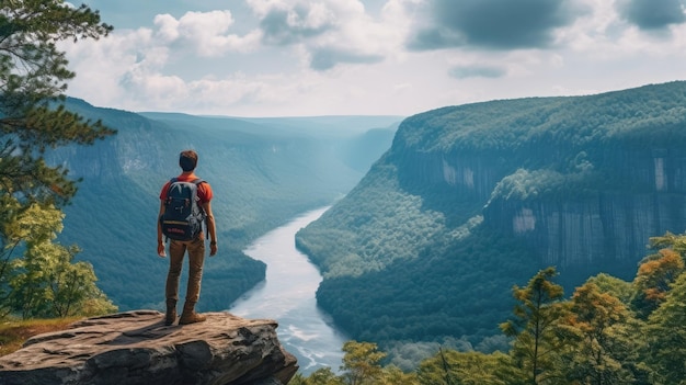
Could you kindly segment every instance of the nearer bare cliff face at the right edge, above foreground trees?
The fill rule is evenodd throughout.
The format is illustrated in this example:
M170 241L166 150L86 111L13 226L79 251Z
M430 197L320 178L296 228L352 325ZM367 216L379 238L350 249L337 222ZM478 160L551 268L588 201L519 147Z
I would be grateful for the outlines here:
M631 279L650 237L686 230L686 151L627 151L624 158L613 168L627 181L622 190L495 197L484 208L484 222L525 238L544 264L579 272L601 268Z

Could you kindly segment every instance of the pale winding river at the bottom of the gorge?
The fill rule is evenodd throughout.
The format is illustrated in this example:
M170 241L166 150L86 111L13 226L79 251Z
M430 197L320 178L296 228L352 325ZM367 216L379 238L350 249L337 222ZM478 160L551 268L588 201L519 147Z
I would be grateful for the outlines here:
M347 340L331 318L317 307L315 293L322 278L306 254L295 247L296 233L329 207L298 216L255 240L244 252L266 263L265 280L236 301L228 312L244 318L278 321L278 339L298 359L300 372L321 367L339 373Z

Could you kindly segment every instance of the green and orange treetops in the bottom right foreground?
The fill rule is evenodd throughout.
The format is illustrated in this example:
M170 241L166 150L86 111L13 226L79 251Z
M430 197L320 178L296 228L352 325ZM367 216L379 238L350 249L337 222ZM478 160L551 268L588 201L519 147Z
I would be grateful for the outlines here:
M386 354L375 343L348 341L340 375L325 367L290 384L683 384L686 235L667 233L651 245L661 249L631 283L599 274L564 299L548 268L515 286L514 312L501 324L507 352L439 349L405 373L382 366Z

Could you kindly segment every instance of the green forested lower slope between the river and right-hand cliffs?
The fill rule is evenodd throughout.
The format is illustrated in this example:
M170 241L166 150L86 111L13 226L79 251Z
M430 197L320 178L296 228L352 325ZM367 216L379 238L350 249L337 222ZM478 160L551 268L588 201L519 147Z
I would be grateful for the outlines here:
M517 239L488 231L472 199L443 203L447 219L426 210L428 199L398 189L396 173L375 165L345 200L298 231L297 247L324 275L319 305L348 336L382 349L453 338L502 349L506 342L490 337L512 307L513 284L536 273L536 257Z

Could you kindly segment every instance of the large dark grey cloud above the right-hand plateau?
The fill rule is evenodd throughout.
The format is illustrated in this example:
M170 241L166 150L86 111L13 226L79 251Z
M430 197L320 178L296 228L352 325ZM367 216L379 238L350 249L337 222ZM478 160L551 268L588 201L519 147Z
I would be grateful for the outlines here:
M587 11L576 0L433 0L428 25L419 26L408 47L547 48L556 30Z

